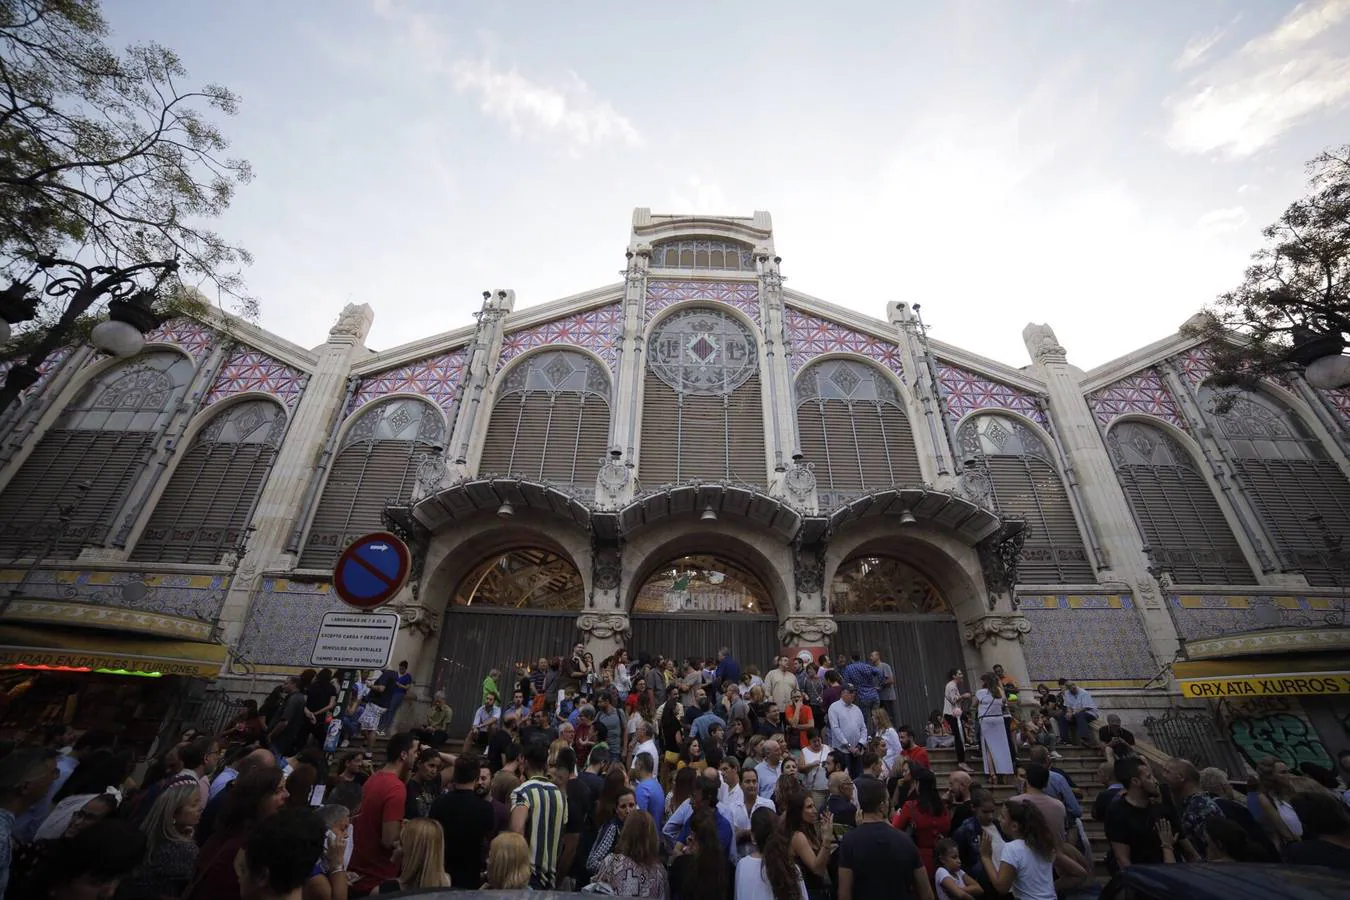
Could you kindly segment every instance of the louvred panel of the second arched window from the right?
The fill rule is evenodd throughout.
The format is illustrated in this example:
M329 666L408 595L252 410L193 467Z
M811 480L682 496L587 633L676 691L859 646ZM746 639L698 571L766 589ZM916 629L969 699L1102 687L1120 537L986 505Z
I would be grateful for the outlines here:
M1251 568L1208 482L1177 466L1116 466L1158 565L1183 584L1250 584Z

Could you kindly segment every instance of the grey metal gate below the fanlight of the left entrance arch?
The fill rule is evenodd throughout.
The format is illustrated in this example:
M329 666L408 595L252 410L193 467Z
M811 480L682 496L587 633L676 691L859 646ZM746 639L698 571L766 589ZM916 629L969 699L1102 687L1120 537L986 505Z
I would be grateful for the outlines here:
M451 734L468 733L474 710L483 703L483 677L489 671L501 669L497 687L505 696L498 700L509 706L517 663L533 664L541 656L566 658L576 640L574 611L451 609L446 613L435 690L446 692L446 703L455 711Z

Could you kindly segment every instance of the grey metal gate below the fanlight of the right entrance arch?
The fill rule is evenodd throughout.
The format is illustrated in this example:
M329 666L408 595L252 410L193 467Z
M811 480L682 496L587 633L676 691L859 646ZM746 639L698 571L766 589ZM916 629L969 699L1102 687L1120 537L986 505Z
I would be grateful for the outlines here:
M895 696L900 721L923 741L923 723L933 710L942 711L942 688L949 669L961 668L961 631L950 615L840 615L838 633L830 638L830 650L838 663L840 653L871 653L895 671ZM968 673L969 675L969 673Z

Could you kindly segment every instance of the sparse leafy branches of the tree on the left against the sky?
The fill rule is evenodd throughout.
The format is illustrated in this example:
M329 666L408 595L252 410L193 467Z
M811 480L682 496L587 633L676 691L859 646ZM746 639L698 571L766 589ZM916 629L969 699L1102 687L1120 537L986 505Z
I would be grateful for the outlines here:
M0 269L26 278L53 252L117 267L177 259L181 282L251 317L248 254L204 225L251 177L212 121L238 99L185 88L166 47L119 53L107 35L99 0L0 0Z

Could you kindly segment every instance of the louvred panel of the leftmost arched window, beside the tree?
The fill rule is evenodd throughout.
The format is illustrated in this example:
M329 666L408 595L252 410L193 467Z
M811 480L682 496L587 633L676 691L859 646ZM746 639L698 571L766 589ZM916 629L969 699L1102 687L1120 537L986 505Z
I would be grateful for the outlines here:
M0 555L73 559L103 546L154 451L155 432L47 432L0 494ZM77 484L89 483L80 498ZM76 503L61 532L61 506Z

